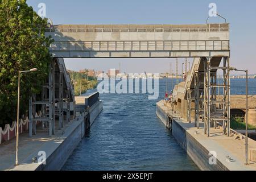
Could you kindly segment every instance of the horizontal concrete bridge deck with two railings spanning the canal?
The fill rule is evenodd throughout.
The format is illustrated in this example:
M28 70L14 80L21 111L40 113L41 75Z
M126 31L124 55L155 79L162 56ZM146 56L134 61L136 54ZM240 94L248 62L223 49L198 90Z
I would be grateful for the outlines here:
M229 55L229 24L54 25L55 57L203 57Z

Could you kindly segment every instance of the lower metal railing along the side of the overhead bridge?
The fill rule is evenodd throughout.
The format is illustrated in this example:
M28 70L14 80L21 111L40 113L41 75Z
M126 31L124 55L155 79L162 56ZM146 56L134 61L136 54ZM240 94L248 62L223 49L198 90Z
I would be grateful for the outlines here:
M229 40L55 41L50 51L229 51Z

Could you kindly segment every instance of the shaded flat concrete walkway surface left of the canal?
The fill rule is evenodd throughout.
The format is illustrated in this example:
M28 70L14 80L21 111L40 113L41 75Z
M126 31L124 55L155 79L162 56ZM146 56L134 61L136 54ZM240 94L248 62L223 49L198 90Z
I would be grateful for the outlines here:
M48 137L48 131L37 130L36 135L31 138L28 133L19 135L19 166L15 164L15 147L16 139L4 142L0 145L0 170L35 170L39 164L32 163L33 157L39 157L39 151L45 151L47 156L51 155L54 150L67 138L81 121L71 121L65 123L63 129L57 130L55 135Z

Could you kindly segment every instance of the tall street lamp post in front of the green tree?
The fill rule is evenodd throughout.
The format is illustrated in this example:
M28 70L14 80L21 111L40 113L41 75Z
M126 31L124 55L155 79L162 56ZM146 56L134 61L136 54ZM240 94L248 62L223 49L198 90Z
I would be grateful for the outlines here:
M19 71L18 76L18 104L17 104L17 126L16 126L16 158L15 158L15 166L18 166L18 146L19 146L19 95L20 95L20 74L26 72L35 72L38 69L32 68L29 71Z

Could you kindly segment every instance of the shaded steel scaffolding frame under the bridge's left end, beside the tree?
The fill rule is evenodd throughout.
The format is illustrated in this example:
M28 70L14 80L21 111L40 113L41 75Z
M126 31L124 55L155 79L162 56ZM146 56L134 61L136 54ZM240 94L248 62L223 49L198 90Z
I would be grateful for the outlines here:
M41 101L36 101L32 94L29 100L29 137L36 134L36 125L41 122L42 130L48 127L48 135L55 134L55 117L59 117L59 129L64 127L64 111L67 113L65 123L70 121L70 89L64 89L64 68L53 59L49 64L49 76L46 85L42 86ZM55 97L57 96L57 97ZM64 109L64 101L65 109ZM56 103L57 102L57 103ZM36 117L36 105L40 105L41 115Z

